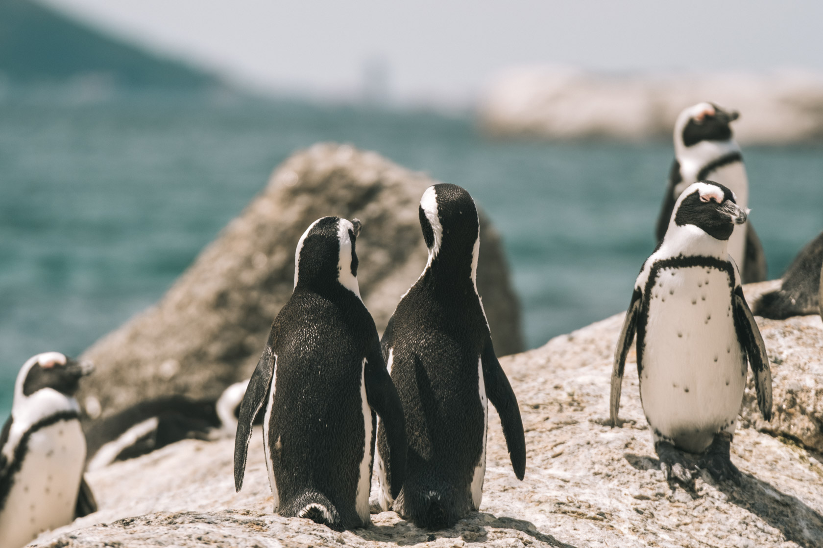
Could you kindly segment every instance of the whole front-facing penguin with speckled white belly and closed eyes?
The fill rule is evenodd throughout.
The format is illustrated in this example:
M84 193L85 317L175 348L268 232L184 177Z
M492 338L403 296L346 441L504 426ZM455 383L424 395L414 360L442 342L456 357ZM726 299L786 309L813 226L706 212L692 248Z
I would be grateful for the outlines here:
M668 480L691 481L689 459L715 479L740 481L729 458L746 362L760 412L772 416L771 371L760 329L728 253L747 212L717 182L695 182L677 199L666 236L635 282L611 373L617 426L625 357L637 332L640 401Z

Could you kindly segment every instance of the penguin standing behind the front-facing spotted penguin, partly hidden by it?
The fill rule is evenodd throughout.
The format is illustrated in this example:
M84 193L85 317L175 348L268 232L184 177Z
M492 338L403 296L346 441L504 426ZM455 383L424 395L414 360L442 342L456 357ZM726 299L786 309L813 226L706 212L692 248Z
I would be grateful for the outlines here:
M740 146L732 136L731 123L740 114L714 103L698 103L685 108L674 127L675 159L663 196L656 236L663 241L677 196L695 181L710 179L730 188L737 205L746 209L749 182ZM766 279L766 260L760 238L751 223L737 227L728 241L728 252L743 274L743 283Z

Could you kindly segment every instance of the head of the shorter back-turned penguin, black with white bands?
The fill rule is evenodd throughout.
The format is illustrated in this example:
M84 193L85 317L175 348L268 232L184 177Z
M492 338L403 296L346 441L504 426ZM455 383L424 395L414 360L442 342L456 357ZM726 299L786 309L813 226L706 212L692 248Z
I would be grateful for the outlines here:
M358 297L355 242L360 221L323 217L306 229L295 252L295 288L342 286Z

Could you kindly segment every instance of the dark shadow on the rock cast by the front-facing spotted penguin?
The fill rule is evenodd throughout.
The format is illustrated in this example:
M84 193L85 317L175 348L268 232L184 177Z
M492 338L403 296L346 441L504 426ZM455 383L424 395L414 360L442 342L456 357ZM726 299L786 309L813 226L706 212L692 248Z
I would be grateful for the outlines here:
M636 470L659 469L660 461L636 454L625 454L625 459ZM691 462L697 461L687 455ZM706 478L709 479L709 478ZM756 514L766 523L778 529L787 541L797 542L803 548L823 546L823 516L803 504L792 495L786 495L774 486L760 481L751 474L741 474L739 485L728 481L715 483L717 489L728 497L728 502L736 504L747 512ZM692 499L699 495L688 490Z

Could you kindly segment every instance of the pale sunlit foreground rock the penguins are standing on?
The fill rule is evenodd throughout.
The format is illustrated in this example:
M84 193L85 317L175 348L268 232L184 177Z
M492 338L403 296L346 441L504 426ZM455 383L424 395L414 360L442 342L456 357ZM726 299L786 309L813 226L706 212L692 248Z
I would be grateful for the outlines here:
M262 436L255 432L239 494L232 486L232 440L187 440L88 474L100 512L42 536L36 546L823 546L821 455L748 427L756 413L746 411L732 444L742 486L717 485L702 473L694 491L669 485L658 470L633 366L623 381L625 424L607 426L622 320L615 315L500 360L523 413L526 477L514 478L491 411L481 512L452 529L425 532L384 512L369 529L336 533L273 515ZM762 326L770 355L779 357L773 370L779 408L784 368L814 352L821 361L823 325L805 316ZM816 385L823 386L819 376Z

